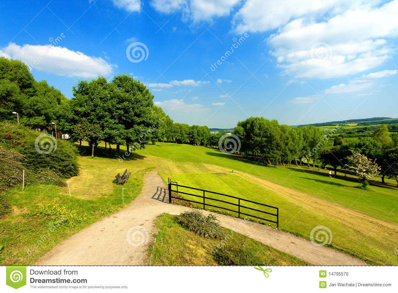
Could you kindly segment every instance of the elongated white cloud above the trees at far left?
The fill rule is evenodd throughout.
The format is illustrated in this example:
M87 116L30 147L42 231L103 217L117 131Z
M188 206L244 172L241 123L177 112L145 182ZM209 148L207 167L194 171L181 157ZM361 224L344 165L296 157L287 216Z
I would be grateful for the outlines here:
M82 52L53 45L19 46L10 43L4 52L13 59L20 59L32 69L58 75L91 78L98 74L111 74L115 66L101 57L90 57Z

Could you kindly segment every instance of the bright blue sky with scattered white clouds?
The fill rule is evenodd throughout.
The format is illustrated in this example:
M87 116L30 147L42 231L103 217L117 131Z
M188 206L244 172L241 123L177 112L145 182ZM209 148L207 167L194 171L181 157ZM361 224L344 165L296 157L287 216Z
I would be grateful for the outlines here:
M126 73L190 125L398 116L398 0L47 0L1 10L0 55L67 98L78 80Z

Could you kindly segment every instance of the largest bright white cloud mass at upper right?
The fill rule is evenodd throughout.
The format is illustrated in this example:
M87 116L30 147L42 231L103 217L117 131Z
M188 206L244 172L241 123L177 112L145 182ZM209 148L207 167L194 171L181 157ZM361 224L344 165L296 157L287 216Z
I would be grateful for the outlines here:
M323 7L319 13L325 15L318 18L307 16L307 12L291 14L291 18L299 18L279 27L267 39L284 73L304 78L341 77L369 70L391 58L394 49L387 40L398 35L398 0L378 8L358 4L361 1L350 2L349 7L341 1L327 1L337 13L329 14Z

